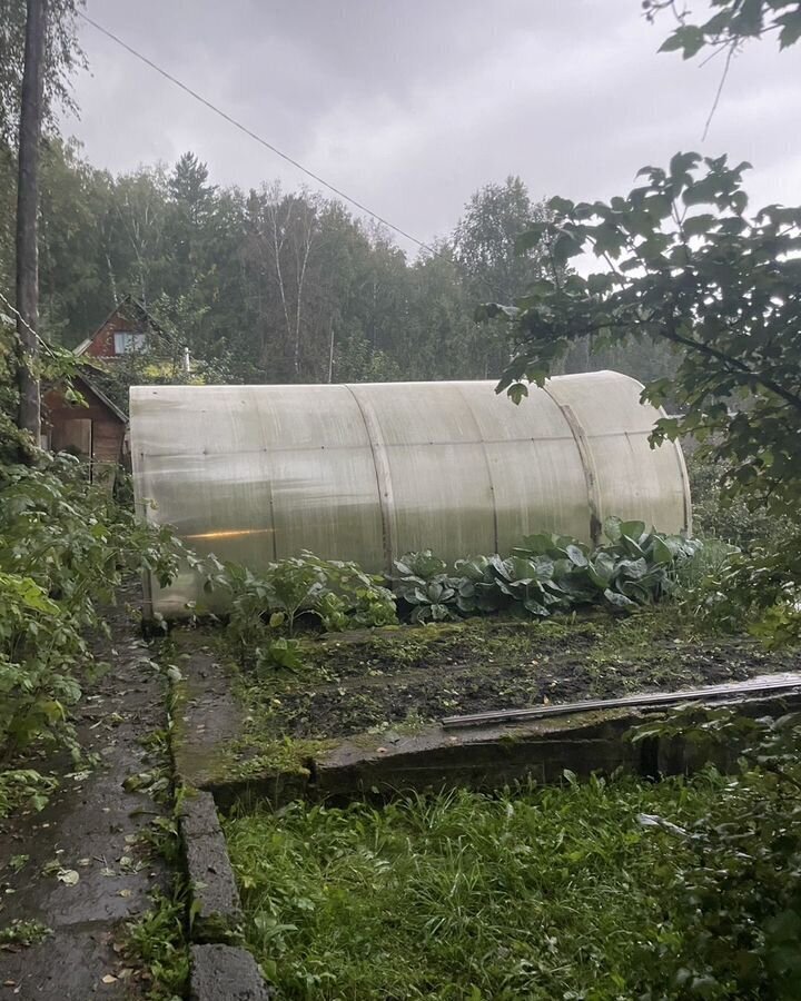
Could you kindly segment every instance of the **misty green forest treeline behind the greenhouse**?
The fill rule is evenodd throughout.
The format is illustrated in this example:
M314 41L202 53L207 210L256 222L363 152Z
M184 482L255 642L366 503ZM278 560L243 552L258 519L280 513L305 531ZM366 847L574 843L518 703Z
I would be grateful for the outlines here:
M0 147L0 279L13 288L16 165ZM436 252L411 256L338 200L265 182L216 186L195 155L112 176L50 138L40 181L40 327L71 347L125 295L139 299L212 377L318 383L495 378L503 324L479 303L513 303L547 269L517 236L546 208L518 177L476 191ZM670 368L653 347L614 355L584 344L566 370Z

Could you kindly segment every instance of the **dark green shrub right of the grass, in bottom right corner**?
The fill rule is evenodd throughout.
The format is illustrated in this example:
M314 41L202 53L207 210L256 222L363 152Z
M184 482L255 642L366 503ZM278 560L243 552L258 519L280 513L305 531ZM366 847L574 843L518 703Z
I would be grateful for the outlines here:
M669 888L684 926L676 997L799 997L801 716L685 708L637 736L741 750L739 774L685 832ZM675 836L671 839L675 842Z

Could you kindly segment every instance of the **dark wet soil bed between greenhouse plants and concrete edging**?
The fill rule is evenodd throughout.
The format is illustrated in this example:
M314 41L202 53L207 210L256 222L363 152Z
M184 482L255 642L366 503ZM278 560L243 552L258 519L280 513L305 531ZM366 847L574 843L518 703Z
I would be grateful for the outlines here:
M323 740L444 715L604 698L798 671L801 655L704 637L664 613L590 622L476 620L332 636L298 672L247 668L246 735Z

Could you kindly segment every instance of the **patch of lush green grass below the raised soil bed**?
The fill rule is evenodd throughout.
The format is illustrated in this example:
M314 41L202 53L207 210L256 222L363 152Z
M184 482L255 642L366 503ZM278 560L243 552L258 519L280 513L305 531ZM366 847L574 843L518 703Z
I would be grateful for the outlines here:
M234 817L248 944L288 999L681 997L670 885L686 842L637 814L688 824L719 782Z

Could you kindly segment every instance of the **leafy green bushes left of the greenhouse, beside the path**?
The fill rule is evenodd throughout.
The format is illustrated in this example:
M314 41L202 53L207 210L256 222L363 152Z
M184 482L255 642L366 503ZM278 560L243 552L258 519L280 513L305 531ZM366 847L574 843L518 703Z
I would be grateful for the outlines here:
M69 706L92 664L101 607L142 565L168 583L186 557L168 528L117 505L66 455L0 466L0 762L73 745Z

